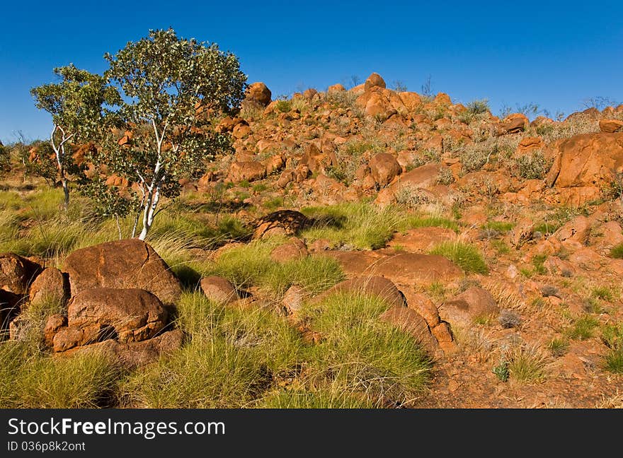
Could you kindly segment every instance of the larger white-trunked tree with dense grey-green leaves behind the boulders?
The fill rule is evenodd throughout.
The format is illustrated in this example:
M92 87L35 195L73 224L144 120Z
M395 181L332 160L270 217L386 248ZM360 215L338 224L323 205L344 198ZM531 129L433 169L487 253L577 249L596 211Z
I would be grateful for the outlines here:
M181 178L200 176L204 160L229 146L229 137L217 134L209 118L239 106L246 76L234 54L178 38L172 29L150 30L105 59L110 64L105 76L124 95L113 116L125 131L108 131L99 160L130 188L137 185L132 237L142 214L139 239L144 240L161 197L177 196Z

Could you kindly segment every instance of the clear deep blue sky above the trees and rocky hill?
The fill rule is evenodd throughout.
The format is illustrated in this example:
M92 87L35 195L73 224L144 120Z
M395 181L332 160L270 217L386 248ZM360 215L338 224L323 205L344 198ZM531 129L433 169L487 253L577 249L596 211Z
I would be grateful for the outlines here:
M586 98L623 102L621 1L8 1L0 25L0 140L47 137L50 119L28 90L73 62L105 70L150 28L217 42L236 54L249 82L273 97L324 90L372 71L453 100L537 103L552 114ZM213 4L212 4L213 3Z

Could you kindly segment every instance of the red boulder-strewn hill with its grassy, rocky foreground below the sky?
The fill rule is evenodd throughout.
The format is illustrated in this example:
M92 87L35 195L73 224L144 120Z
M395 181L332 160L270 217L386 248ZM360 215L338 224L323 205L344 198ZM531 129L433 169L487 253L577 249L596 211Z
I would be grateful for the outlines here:
M272 98L219 119L234 155L147 243L6 172L3 360L45 356L0 404L97 351L93 405L622 406L623 105L500 119L378 74Z

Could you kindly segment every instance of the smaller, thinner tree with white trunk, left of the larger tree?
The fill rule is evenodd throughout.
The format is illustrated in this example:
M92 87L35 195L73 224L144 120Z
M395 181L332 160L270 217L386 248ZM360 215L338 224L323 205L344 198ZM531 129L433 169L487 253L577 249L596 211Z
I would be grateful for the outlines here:
M52 114L50 146L56 163L59 180L63 187L64 207L69 206L69 183L67 175L76 172L69 144L93 138L104 117L105 104L119 101L115 88L106 85L105 78L74 64L54 69L62 81L33 88L30 93L35 105ZM47 156L41 155L40 160Z

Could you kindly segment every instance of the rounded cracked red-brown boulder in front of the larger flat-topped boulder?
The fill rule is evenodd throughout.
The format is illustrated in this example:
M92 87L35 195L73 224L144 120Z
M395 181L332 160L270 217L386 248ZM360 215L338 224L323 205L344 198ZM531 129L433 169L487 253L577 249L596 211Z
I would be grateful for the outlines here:
M93 288L75 295L67 308L67 327L57 330L55 351L105 339L122 343L151 339L167 324L168 312L149 291Z

